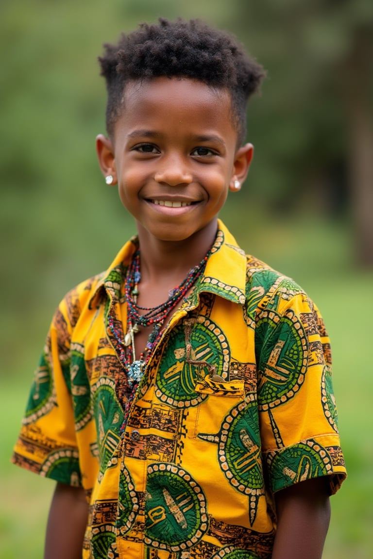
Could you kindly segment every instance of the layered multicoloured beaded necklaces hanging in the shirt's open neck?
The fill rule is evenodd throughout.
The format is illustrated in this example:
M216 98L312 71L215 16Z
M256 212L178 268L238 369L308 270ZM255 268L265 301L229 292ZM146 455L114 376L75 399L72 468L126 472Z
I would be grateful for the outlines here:
M131 390L128 400L125 404L124 421L121 430L124 430L128 420L129 410L131 403L134 399L136 390L139 386L141 378L144 374L144 369L148 364L152 350L159 342L162 335L162 325L164 319L169 312L176 307L176 305L183 299L187 291L195 284L197 279L204 272L207 259L209 258L210 250L201 262L190 269L185 280L168 293L168 299L164 303L155 307L141 307L137 304L139 295L139 283L141 281L140 273L140 251L136 250L131 260L125 279L125 296L127 302L127 333L123 338L121 330L116 328L114 318L111 314L108 315L108 326L119 345L119 357L122 367L126 372L128 385ZM140 314L143 312L143 314ZM140 331L140 328L146 326L153 326L150 331L147 345L144 351L140 354L139 359L136 359L135 353L135 334Z

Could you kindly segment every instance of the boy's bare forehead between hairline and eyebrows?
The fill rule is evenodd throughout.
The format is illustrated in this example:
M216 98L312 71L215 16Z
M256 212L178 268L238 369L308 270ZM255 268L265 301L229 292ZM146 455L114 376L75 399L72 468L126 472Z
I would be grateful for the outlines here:
M211 129L237 138L228 89L190 78L151 78L126 84L114 130L172 122L178 127Z

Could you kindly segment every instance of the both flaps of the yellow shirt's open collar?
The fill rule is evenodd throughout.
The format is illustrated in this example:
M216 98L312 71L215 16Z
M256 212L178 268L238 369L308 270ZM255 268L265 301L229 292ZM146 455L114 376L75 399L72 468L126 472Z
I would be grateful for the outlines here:
M136 236L121 248L107 271L101 274L101 278L89 300L90 308L98 306L105 291L112 301L120 299L125 273L137 248L138 238ZM245 280L245 253L239 248L233 235L219 219L218 232L206 263L205 273L197 282L194 293L196 296L202 292L214 293L224 297L224 299L243 305L245 302Z

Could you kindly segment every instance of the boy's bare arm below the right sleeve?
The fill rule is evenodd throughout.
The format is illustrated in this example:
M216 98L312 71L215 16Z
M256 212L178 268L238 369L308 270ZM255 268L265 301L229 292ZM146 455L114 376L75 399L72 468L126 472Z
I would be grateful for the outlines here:
M277 532L272 559L321 559L330 503L324 477L301 481L275 494Z

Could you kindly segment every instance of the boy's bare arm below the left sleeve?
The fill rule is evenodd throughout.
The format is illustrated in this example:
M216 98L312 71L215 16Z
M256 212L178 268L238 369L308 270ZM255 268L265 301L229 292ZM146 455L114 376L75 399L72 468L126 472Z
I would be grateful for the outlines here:
M58 482L49 511L44 559L81 559L87 518L82 487Z

